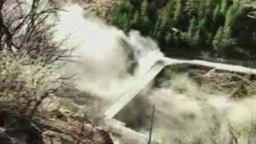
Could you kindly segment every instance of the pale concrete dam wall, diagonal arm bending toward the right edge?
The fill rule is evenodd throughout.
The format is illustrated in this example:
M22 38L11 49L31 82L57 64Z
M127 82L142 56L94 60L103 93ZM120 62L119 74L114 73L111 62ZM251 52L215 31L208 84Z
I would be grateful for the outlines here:
M145 88L148 83L151 82L165 66L176 64L199 65L221 71L247 73L251 74L252 77L256 75L256 69L248 67L207 62L201 60L176 60L171 58L164 58L163 60L159 60L159 62L152 66L152 69L148 73L146 73L145 76L142 77L135 86L131 88L132 90L129 90L118 102L116 102L108 110L105 111L106 119L113 118L128 102L130 102L132 98L134 98L143 88Z

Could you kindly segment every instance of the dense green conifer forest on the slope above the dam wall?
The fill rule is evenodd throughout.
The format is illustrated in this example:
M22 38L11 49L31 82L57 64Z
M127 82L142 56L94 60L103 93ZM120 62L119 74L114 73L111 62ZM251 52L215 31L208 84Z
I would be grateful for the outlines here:
M106 15L126 32L151 36L166 55L252 60L255 10L243 0L122 0Z

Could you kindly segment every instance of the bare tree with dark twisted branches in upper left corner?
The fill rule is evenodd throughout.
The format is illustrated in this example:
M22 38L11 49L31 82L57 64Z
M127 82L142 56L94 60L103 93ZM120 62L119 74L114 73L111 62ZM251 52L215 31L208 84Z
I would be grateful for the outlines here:
M41 8L42 1L32 0L28 13L22 9L22 4L28 5L22 0L0 0L0 40L1 49L4 45L8 50L12 47L29 54L31 57L45 57L49 63L65 60L72 57L71 50L61 50L62 42L52 41L49 30L51 25L46 24L50 15L58 17L61 9L57 3L48 8ZM22 31L23 30L23 31ZM70 54L67 55L67 52ZM64 59L63 59L64 58Z

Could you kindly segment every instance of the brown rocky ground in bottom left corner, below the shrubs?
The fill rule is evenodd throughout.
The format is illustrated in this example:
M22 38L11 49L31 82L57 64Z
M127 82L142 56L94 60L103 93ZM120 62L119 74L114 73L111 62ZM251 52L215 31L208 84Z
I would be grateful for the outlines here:
M54 115L54 114L53 114ZM81 121L76 114L59 114L64 119L44 118L42 116L24 117L4 113L6 117L0 134L0 141L7 143L36 144L113 144L110 133L103 128L95 127ZM47 116L45 114L44 116ZM1 129L4 128L1 125Z

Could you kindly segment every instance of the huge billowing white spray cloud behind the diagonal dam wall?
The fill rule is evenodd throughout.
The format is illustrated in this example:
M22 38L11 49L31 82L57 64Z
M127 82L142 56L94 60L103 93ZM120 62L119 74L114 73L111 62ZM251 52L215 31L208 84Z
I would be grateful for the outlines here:
M150 38L143 38L136 31L132 31L127 37L121 30L106 25L97 17L85 19L82 16L83 10L78 5L66 9L69 12L59 13L60 21L57 22L55 40L69 36L62 48L76 47L73 55L81 58L75 63L68 63L65 72L76 74L76 84L81 90L106 99L118 98L134 85L138 77L150 70L159 55L162 55ZM139 63L135 72L138 77L126 72L127 54L121 47L119 38L124 39L131 49L139 52L135 53Z

